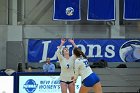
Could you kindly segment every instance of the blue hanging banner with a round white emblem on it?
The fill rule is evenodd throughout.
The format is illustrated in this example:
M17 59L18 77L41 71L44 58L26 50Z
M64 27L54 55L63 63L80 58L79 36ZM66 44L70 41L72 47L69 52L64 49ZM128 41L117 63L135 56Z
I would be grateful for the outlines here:
M54 0L53 20L80 20L80 0Z

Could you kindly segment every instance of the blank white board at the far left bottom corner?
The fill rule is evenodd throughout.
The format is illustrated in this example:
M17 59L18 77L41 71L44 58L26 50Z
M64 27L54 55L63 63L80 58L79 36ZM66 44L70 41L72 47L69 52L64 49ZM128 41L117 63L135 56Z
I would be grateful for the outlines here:
M0 76L0 93L14 93L14 76Z

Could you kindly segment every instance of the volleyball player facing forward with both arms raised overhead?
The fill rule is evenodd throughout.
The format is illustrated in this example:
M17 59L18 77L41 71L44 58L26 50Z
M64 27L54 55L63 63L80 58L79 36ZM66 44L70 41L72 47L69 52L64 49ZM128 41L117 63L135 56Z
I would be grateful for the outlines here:
M67 89L69 93L75 93L75 83L71 80L71 77L74 75L74 61L75 57L70 56L69 49L67 47L63 48L61 54L61 48L66 42L66 39L61 39L61 44L57 49L57 56L61 66L60 73L60 84L61 84L61 92L67 93ZM69 39L69 42L76 47L74 40Z

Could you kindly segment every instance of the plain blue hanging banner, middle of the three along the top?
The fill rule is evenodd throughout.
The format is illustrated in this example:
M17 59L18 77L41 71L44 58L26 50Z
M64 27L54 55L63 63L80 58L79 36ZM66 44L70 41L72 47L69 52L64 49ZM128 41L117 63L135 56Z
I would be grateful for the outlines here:
M115 20L115 0L88 0L87 20Z

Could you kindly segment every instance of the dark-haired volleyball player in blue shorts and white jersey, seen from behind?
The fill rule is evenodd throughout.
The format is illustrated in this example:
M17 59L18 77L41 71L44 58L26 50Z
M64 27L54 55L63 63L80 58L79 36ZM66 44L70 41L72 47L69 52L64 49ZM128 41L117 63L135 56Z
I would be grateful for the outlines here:
M93 88L94 93L102 93L102 87L99 77L92 71L88 65L88 60L85 54L77 47L73 50L75 60L75 75L72 80L76 82L78 75L81 75L82 85L79 93L88 93L90 87Z

